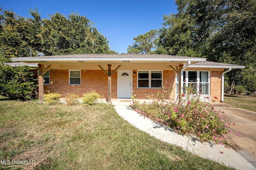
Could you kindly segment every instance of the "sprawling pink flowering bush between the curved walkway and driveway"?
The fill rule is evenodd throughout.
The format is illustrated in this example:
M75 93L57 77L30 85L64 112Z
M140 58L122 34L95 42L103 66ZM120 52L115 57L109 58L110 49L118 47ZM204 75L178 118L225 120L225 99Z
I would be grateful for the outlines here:
M197 135L202 141L216 141L224 137L228 132L228 124L224 122L222 110L216 111L212 104L201 101L192 88L186 88L184 91L185 93L180 95L179 104L166 103L163 102L164 98L158 98L150 103L134 102L132 107L181 134Z

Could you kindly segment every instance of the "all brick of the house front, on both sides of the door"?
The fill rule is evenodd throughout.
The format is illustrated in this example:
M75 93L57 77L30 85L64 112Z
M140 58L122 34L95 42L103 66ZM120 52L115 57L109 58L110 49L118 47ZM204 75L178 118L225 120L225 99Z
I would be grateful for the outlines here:
M148 99L146 94L156 96L158 90L153 88L137 88L137 70L136 76L132 76L132 90L136 92L136 98ZM210 72L210 96L214 100L217 97L216 102L221 100L221 73L222 71ZM175 72L173 70L163 70L163 85L164 90L171 90L170 98L175 100ZM112 80L112 98L117 98L117 72L111 76ZM82 96L82 94L89 92L90 90L96 90L104 98L108 98L108 76L102 70L81 70L81 85L68 85L69 76L68 70L50 70L50 85L44 85L44 91L59 92L65 95L66 93L76 93ZM47 93L47 92L46 92Z

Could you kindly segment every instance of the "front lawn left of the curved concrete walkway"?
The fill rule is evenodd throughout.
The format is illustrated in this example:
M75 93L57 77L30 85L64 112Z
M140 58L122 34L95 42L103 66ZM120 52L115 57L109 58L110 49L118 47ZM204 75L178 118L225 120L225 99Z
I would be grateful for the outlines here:
M113 106L49 106L0 100L0 169L230 169L164 143L123 120Z

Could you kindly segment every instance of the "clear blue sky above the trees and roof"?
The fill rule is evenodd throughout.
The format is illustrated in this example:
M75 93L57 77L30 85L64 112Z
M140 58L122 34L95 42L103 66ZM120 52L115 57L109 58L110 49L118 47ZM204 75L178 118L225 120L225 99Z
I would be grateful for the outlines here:
M78 12L94 22L94 26L109 40L111 50L126 53L133 37L151 29L160 29L163 16L176 14L175 0L0 0L3 10L12 9L29 18L28 9L37 8L41 18L56 12L68 18Z

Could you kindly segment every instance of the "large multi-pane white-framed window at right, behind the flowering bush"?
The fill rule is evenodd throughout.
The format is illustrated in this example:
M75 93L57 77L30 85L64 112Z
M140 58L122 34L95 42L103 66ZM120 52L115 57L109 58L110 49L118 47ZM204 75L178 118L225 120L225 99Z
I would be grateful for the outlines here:
M184 71L183 87L192 87L202 95L210 95L209 71ZM179 77L176 75L176 94L178 94Z

